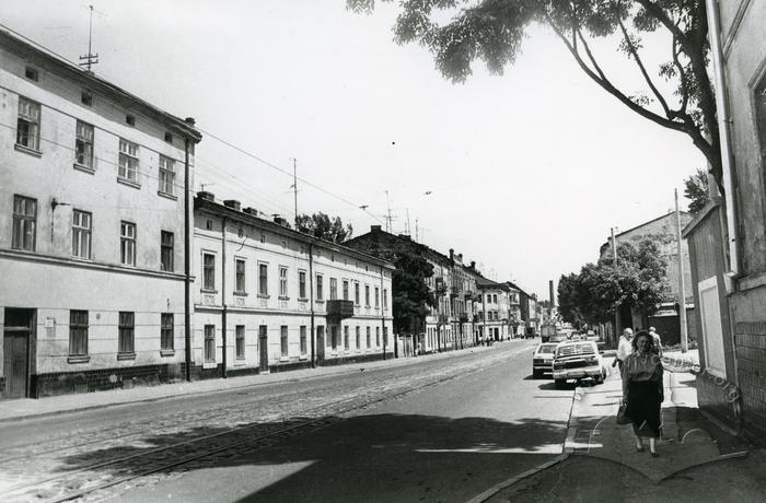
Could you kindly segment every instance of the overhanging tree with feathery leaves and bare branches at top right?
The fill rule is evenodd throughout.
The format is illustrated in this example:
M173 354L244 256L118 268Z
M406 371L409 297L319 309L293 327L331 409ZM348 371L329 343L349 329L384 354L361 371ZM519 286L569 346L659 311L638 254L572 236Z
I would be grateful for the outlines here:
M381 0L391 2L393 0ZM707 72L708 24L705 0L397 0L398 44L428 48L437 69L453 82L472 74L481 60L502 74L522 49L532 24L547 25L582 71L625 106L664 128L688 136L710 165L721 194L720 137L716 98ZM347 0L356 12L372 12L375 0ZM448 22L441 22L451 15ZM665 61L650 74L641 57L645 38L655 32L670 40ZM640 72L643 92L617 87L591 50L594 38L614 40ZM659 39L659 37L652 37ZM662 92L658 78L673 91Z

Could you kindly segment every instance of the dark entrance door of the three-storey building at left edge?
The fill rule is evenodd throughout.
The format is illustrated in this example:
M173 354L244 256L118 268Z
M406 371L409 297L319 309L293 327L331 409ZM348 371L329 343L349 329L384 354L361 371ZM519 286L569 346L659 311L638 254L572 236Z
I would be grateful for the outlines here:
M5 379L4 398L28 396L30 339L34 309L5 308L2 337L2 375Z

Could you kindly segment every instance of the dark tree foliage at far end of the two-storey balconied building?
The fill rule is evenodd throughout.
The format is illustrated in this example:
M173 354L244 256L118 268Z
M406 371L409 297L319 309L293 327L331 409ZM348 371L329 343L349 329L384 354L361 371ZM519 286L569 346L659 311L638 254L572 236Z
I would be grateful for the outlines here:
M394 332L414 334L428 315L428 306L437 305L426 283L426 278L433 276L433 266L411 249L398 250L393 261L396 265L391 285Z

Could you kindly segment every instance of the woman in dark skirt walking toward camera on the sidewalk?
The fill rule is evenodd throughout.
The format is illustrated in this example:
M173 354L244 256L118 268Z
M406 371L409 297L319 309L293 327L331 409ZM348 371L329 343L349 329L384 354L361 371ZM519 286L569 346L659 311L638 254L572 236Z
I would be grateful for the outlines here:
M625 360L623 396L627 401L625 414L632 421L636 451L643 452L642 438L648 437L652 457L658 456L657 440L662 432L662 372L652 337L639 331L632 339L632 353Z

